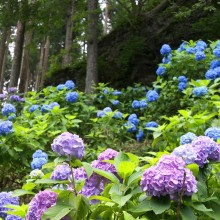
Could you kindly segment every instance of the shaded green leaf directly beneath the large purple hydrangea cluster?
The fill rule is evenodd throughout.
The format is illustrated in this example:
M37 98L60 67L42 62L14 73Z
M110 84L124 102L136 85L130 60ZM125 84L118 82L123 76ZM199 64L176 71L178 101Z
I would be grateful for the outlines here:
M166 197L152 197L150 200L150 207L156 215L161 214L170 208L170 198Z

